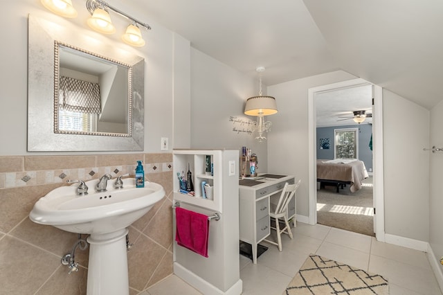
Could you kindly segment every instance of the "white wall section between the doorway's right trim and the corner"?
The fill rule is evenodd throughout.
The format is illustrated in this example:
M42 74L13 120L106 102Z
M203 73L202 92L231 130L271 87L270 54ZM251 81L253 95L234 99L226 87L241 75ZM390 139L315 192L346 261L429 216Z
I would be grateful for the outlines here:
M385 231L429 240L429 111L383 90Z

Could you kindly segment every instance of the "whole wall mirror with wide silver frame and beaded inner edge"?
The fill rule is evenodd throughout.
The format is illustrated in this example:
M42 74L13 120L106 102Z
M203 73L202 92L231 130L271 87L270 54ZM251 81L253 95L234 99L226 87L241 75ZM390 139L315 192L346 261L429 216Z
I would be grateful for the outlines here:
M143 150L143 57L31 15L28 29L28 151Z

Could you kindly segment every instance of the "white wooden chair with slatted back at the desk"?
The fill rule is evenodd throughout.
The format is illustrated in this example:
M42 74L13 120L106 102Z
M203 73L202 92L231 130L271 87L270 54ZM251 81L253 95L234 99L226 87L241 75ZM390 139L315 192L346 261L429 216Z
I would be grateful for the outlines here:
M280 252L282 251L281 234L286 233L287 235L289 235L289 238L293 238L291 227L289 226L288 222L287 211L289 202L291 202L291 199L296 194L298 186L300 186L300 181L301 179L296 184L284 184L284 188L280 195L271 196L271 207L269 211L269 216L275 220L275 227L271 226L271 229L274 229L277 232L277 242L268 239L265 239L265 241L277 245ZM272 199L274 199L275 197L278 198L278 202L272 202ZM276 199L274 199L274 201L276 201ZM284 220L283 229L280 229L280 218ZM294 220L293 222L296 222L296 220Z

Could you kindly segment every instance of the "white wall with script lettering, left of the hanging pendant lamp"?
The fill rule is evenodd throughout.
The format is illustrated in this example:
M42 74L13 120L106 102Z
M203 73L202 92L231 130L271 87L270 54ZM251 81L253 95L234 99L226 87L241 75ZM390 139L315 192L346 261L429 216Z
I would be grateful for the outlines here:
M257 81L222 64L195 48L191 49L192 148L236 149L250 147L258 157L258 172L267 172L267 142L259 143L246 133L233 132L230 116L244 120L246 99L258 93ZM273 116L269 116L273 120ZM271 133L273 132L273 128Z

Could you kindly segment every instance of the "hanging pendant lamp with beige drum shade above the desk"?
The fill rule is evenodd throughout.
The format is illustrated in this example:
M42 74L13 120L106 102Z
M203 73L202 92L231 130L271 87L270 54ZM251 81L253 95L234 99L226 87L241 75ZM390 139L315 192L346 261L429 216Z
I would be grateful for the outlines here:
M273 96L262 96L262 72L264 72L264 66L259 66L255 71L260 75L260 91L258 96L253 96L246 100L246 106L244 107L244 114L249 116L257 116L257 121L254 123L254 130L257 132L255 139L262 142L266 137L264 132L269 132L272 123L264 120L264 116L276 114L277 104Z

